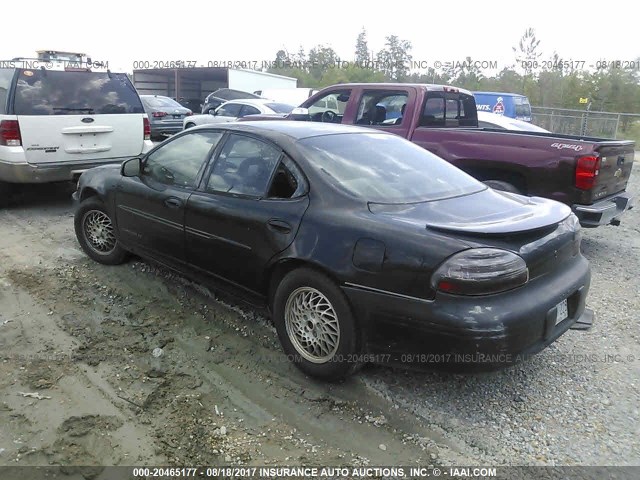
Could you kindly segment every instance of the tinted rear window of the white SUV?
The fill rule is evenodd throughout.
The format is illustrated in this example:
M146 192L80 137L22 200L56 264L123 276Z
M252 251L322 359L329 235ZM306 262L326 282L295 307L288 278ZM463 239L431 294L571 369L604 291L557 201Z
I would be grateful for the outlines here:
M124 73L19 70L16 115L144 113Z

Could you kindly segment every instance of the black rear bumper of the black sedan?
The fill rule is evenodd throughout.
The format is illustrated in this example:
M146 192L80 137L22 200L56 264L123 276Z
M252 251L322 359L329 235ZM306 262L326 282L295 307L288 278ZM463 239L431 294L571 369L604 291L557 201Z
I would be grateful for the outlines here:
M439 293L430 301L349 284L343 289L372 361L495 369L525 360L576 323L588 325L590 280L589 263L578 255L524 287L483 297ZM556 307L565 299L568 317L556 324Z

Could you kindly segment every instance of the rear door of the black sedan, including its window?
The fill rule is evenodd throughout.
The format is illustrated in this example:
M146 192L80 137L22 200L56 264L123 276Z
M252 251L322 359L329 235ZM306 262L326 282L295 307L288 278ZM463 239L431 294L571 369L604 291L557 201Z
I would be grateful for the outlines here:
M187 202L187 260L260 291L269 260L286 249L309 205L307 183L281 149L232 134Z

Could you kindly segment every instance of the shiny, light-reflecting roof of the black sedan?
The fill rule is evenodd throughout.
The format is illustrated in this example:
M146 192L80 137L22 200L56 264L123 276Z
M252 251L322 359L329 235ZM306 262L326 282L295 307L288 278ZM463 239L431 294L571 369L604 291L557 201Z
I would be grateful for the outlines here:
M193 127L191 131L223 129L235 132L254 133L276 141L288 137L290 141L324 135L338 135L344 133L373 133L390 135L387 132L355 125L341 125L336 123L303 122L296 120L254 120L247 122L213 123Z

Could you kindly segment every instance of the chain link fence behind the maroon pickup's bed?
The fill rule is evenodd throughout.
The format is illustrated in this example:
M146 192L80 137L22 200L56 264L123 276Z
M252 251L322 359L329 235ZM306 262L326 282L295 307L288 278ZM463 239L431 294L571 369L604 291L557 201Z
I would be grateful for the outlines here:
M636 140L640 144L640 114L570 108L531 107L532 123L554 133Z

